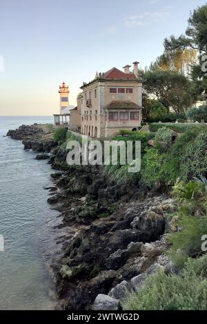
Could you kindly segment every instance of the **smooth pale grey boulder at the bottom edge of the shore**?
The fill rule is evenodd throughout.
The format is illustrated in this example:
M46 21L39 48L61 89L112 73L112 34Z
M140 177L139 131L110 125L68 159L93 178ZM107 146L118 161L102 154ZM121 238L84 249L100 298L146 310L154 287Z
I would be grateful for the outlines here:
M117 299L110 296L99 294L95 298L95 302L92 305L92 310L119 310L120 305Z

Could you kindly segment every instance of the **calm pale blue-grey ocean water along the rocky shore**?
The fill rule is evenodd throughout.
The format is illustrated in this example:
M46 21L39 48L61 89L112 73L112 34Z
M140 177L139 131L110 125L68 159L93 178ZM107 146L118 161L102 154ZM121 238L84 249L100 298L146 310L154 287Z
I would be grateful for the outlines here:
M52 117L0 117L0 310L53 309L48 263L55 255L58 212L47 204L50 166L34 160L8 129L52 123Z

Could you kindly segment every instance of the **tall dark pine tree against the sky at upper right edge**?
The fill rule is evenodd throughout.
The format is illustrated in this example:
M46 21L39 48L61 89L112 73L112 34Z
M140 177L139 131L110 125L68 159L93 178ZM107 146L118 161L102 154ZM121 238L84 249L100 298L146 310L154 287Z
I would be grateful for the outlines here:
M199 94L201 99L207 99L207 5L198 7L190 13L188 28L185 35L171 36L165 39L166 51L196 49L199 53L198 62L193 65L191 77L195 83L193 93ZM202 68L204 67L204 68Z

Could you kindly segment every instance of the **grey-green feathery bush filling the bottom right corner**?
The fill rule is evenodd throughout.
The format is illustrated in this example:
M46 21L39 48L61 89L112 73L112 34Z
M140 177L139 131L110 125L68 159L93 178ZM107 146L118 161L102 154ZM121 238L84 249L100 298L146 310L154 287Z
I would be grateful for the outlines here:
M180 276L159 272L132 294L124 310L206 310L207 255L188 259Z

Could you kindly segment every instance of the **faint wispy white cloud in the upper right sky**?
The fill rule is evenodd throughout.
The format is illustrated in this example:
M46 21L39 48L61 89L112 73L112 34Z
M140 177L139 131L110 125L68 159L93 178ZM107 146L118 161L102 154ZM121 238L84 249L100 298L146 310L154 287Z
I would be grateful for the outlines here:
M130 28L130 27L134 27L134 26L147 26L150 23L153 22L159 22L162 21L164 19L166 19L166 17L169 16L169 12L167 11L145 11L142 12L141 14L134 14L130 17L128 17L125 21L124 24L126 27Z

